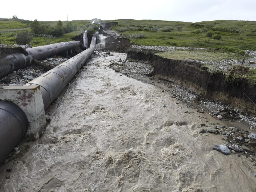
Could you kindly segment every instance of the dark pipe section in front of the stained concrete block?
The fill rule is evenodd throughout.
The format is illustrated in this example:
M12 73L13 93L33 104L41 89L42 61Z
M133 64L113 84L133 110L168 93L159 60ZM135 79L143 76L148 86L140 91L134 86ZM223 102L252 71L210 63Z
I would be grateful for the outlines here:
M14 103L0 101L0 164L25 136L28 121L25 113Z

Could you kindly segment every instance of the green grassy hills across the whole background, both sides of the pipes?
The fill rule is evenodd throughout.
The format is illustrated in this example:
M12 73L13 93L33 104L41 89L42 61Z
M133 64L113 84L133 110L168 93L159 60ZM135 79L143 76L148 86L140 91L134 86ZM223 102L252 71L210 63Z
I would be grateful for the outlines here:
M63 25L67 21L63 21ZM72 37L83 33L84 27L92 20L71 21L78 26L77 31L65 33L56 38L34 37L30 43L33 46L50 43L71 41ZM255 21L202 21L197 23L159 21L159 20L135 20L117 19L103 22L118 22L113 27L123 33L135 45L149 46L180 46L180 47L209 47L231 46L235 49L256 50L256 22ZM57 21L42 21L46 25L56 25ZM181 30L178 30L181 29ZM1 19L1 42L14 44L15 36L19 31L30 31L29 21L22 19ZM169 32L163 32L169 31ZM208 31L221 35L217 40L208 37Z

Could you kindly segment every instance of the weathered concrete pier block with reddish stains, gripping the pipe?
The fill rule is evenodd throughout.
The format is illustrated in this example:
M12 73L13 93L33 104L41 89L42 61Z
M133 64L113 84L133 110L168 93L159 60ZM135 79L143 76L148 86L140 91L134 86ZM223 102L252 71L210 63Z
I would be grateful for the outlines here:
M29 121L26 140L34 141L40 137L47 123L39 85L4 86L0 89L0 101L13 102L24 111Z

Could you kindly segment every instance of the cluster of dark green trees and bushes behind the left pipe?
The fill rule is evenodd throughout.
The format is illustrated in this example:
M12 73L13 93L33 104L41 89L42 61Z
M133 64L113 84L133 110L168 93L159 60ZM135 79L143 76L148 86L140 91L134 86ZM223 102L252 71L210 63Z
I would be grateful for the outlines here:
M35 35L46 34L55 37L77 30L77 26L73 25L71 22L67 22L66 25L63 26L62 21L59 20L56 26L48 26L40 23L37 19L30 23L30 28Z

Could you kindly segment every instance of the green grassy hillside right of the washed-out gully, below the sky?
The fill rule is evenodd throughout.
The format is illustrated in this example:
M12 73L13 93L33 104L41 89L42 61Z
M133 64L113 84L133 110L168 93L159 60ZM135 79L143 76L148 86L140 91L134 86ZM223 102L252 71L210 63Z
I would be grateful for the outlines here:
M256 49L256 22L255 21L202 21L198 23L118 19L104 22L118 22L113 27L131 37L135 45L149 46L181 46L181 47L215 47L231 46L236 49ZM178 31L178 27L181 30ZM157 28L170 28L170 32L156 30ZM207 37L207 31L212 30L221 35L220 40ZM132 38L134 33L145 34L142 38Z

